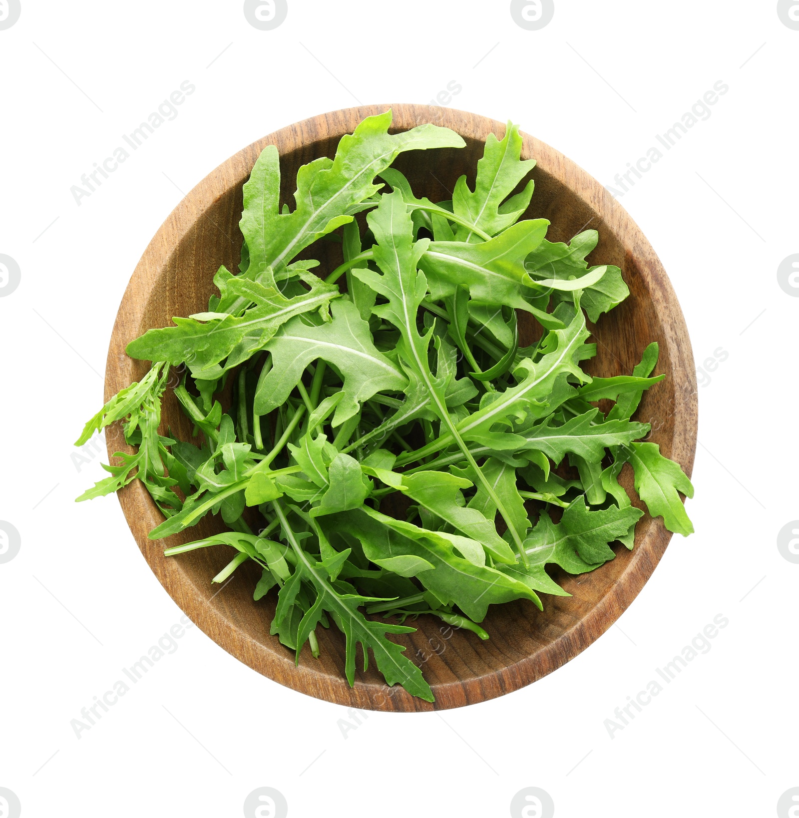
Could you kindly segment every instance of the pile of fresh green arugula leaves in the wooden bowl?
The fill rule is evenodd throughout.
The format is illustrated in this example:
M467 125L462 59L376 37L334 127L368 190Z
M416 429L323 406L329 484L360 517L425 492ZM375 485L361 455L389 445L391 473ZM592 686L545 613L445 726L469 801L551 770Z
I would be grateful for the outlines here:
M432 124L391 135L391 119L365 119L334 160L303 166L294 210L279 207L267 146L244 187L240 272L217 272L208 312L128 345L152 368L77 445L121 420L137 453L118 453L79 500L141 480L166 518L153 539L221 514L231 531L165 555L231 547L213 582L258 563L254 598L277 587L271 632L298 660L306 642L318 656L316 628L332 618L351 685L360 642L365 669L371 649L388 685L433 701L387 637L413 629L385 618L429 613L487 639L476 623L489 605L568 596L547 565L584 573L613 560L610 543L633 547L643 512L617 482L625 463L670 531L693 531L678 494L693 488L656 444L636 442L649 425L631 417L663 378L650 377L658 345L631 375L581 370L596 353L586 314L597 321L629 291L618 267L588 267L595 231L552 244L549 222L519 220L533 183L513 191L535 163L520 160L518 129L488 137L474 191L463 177L433 204L390 165L402 151L465 143ZM361 232L353 217L366 210ZM321 279L318 262L294 258L333 231L344 263ZM541 325L526 348L518 310ZM171 366L186 371L175 393L194 443L159 434ZM225 411L214 396L228 381ZM607 414L593 405L602 399L615 402ZM404 505L391 497L401 495ZM380 510L409 501L406 519Z

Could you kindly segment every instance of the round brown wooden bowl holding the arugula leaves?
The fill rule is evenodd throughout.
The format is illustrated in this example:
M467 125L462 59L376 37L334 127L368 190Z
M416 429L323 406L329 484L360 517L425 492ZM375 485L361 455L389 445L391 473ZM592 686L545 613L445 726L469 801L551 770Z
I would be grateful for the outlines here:
M241 186L263 147L274 144L280 151L281 201L293 206L299 166L318 156L332 157L343 134L352 133L364 117L387 108L339 110L272 133L220 165L177 205L141 257L119 307L108 352L106 400L146 372L146 363L125 354L126 344L151 327L169 326L173 316L206 309L215 291L212 278L218 267L237 268L242 242L238 228ZM397 105L393 115L395 132L433 122L452 128L467 143L461 150L413 151L397 160L396 166L406 173L415 194L433 201L450 198L461 174L474 180L487 134L501 137L505 133L504 124L460 110ZM525 218L548 218L547 237L555 241L571 240L586 227L598 230L599 246L590 262L621 267L631 290L630 298L600 318L594 329L599 354L587 368L592 375L629 375L646 345L658 341L657 372L665 372L667 379L644 393L637 419L652 424L650 439L690 474L697 434L694 359L666 272L640 229L599 182L550 146L533 137L523 138L522 158L538 161L532 174L536 192ZM321 259L317 272L329 272L341 261L340 245L322 241L309 250L306 257ZM165 398L163 419L164 431L171 427L179 436L191 434L171 390ZM106 437L109 455L130 451L119 425L108 429ZM622 472L622 483L631 488L629 465ZM644 515L636 530L635 551L615 546L615 560L580 577L559 569L553 573L572 596L543 596L543 613L527 600L492 606L483 622L491 634L487 642L469 631L447 631L438 619L420 617L415 633L392 638L407 645L407 655L422 665L436 697L436 703L429 704L399 687L389 689L373 662L368 672L357 673L356 684L350 688L344 678L344 640L335 627L319 629L321 658L312 658L306 648L299 667L294 667L293 652L276 636L269 636L276 596L271 593L259 602L253 600L260 569L245 564L220 590L211 584L211 578L230 560L230 549L216 546L165 558L165 541L147 538L163 518L141 483L119 492L119 502L155 576L177 605L228 653L281 685L318 699L398 712L455 708L493 699L554 671L586 649L630 605L671 538L660 519ZM170 537L168 544L190 542L222 528L220 520L205 519Z

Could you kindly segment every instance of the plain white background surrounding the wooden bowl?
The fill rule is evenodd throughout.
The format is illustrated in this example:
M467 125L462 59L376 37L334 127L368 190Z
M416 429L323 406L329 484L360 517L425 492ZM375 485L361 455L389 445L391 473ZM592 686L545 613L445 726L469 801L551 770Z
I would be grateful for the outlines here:
M799 299L777 281L799 252L799 31L774 2L555 6L527 31L508 2L289 0L285 23L259 31L240 2L22 0L0 30L0 253L21 269L0 298L0 519L21 535L0 564L0 787L25 818L240 816L261 786L295 818L507 816L528 786L559 818L771 816L799 787L799 564L777 548L799 518ZM81 174L184 80L196 92L177 118L76 205ZM453 106L514 119L604 184L729 85L622 198L698 366L728 353L699 390L696 533L674 537L617 627L501 699L372 713L345 739L344 708L193 628L77 739L70 720L182 615L114 497L73 502L102 475L100 456L78 470L72 441L101 405L139 256L183 192L249 142L360 102L426 103L451 80ZM614 709L717 614L729 626L710 652L611 738Z

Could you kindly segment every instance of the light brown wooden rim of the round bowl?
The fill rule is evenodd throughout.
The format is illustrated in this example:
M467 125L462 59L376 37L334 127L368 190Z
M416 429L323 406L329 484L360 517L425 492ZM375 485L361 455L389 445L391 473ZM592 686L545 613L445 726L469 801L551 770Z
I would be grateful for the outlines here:
M488 133L495 133L499 137L505 133L503 123L453 108L415 104L357 106L334 110L281 128L222 162L192 188L168 215L132 273L119 305L110 339L105 371L106 401L132 380L133 362L124 352L125 346L139 334L149 296L169 258L186 240L186 236L204 213L231 187L240 186L246 181L249 169L252 169L263 148L276 145L283 155L302 148L308 142L337 139L345 133L352 133L354 125L361 119L383 113L388 108L393 110L393 131L433 122L452 128L462 137L478 142L484 142ZM680 383L688 387L675 390L676 397L671 407L673 436L669 455L680 463L690 477L697 444L696 372L685 318L667 273L640 228L595 178L545 142L526 133L522 133L522 137L523 158L535 158L541 171L577 193L582 202L613 231L626 256L635 258L635 265L644 279L650 298L662 307L658 320L665 336L671 376L680 379ZM124 443L119 424L107 429L106 444L109 457L114 452L132 451ZM465 681L433 684L436 703L430 704L415 699L396 685L388 688L387 685L357 680L355 686L350 688L343 677L336 680L315 672L312 668L302 665L295 667L290 652L282 649L281 645L278 648L285 653L285 657L273 653L246 633L237 630L226 616L223 606L213 605L210 593L201 591L186 579L177 567L177 560L164 559L163 541L148 539L147 533L163 518L141 483L134 480L118 492L118 497L137 545L159 582L195 625L228 653L273 681L317 699L348 707L390 712L441 710L486 701L518 690L561 667L597 640L631 605L657 567L671 539L671 533L662 526L662 522L658 521L658 524L650 526L642 542L635 543L635 551L617 582L608 588L585 616L577 618L572 627L526 658L511 663L502 670L474 676Z

